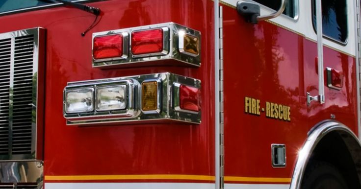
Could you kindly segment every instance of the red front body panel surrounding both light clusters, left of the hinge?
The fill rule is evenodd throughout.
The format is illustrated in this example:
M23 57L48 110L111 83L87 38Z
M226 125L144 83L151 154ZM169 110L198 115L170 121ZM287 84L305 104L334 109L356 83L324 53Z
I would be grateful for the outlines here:
M0 32L47 29L45 175L214 175L213 2L209 0L107 0L100 22L85 37L94 15L56 7L1 16ZM162 66L92 68L92 32L175 22L202 32L201 68ZM14 24L16 23L16 24ZM67 82L169 71L202 81L202 124L66 126L62 91Z

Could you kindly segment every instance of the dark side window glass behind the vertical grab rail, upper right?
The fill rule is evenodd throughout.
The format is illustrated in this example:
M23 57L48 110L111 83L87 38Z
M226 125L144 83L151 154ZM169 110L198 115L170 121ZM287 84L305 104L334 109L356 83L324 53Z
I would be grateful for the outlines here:
M322 32L335 41L347 41L346 0L322 0ZM312 23L316 31L316 1L312 0Z

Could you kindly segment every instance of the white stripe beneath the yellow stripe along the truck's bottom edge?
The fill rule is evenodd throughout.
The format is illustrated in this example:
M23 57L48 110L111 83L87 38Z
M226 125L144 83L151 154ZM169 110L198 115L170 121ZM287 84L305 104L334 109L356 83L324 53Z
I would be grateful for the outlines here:
M289 189L289 185L225 184L225 189ZM212 183L45 183L45 189L214 189Z

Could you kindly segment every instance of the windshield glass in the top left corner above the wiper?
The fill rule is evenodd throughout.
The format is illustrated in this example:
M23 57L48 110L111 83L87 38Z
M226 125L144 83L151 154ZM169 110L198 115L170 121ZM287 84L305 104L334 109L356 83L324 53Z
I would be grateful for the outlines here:
M71 1L71 0L68 0ZM51 0L0 0L0 13L54 3Z

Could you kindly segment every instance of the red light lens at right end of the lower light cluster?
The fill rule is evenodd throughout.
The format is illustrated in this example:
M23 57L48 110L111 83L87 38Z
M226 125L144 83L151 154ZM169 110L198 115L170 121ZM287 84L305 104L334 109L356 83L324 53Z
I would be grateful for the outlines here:
M201 110L201 90L180 85L180 109L199 112Z

